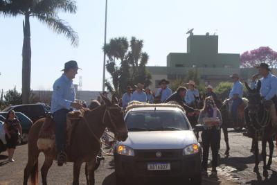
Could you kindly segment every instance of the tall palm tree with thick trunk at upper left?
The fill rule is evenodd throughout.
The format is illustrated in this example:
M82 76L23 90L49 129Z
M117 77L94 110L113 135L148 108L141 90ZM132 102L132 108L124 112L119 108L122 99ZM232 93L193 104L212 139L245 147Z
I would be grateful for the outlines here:
M75 13L77 6L72 0L0 0L0 14L8 17L24 16L22 47L22 103L28 103L30 96L30 17L35 17L48 25L55 33L64 34L78 46L77 33L57 15L58 12Z

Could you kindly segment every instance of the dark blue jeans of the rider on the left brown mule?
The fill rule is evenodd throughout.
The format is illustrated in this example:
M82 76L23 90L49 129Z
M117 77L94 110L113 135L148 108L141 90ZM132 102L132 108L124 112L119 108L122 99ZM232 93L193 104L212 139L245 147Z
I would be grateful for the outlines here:
M69 109L59 109L53 113L55 121L55 141L57 152L64 151L66 146L66 114L71 112Z

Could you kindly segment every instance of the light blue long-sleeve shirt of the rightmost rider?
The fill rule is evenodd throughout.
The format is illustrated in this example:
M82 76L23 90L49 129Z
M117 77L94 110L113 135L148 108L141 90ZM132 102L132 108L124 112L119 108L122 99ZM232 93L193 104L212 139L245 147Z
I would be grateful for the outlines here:
M271 100L275 95L277 95L277 77L269 73L267 77L260 78L262 82L260 87L260 95L265 97L266 100ZM256 83L251 82L251 89L256 88Z

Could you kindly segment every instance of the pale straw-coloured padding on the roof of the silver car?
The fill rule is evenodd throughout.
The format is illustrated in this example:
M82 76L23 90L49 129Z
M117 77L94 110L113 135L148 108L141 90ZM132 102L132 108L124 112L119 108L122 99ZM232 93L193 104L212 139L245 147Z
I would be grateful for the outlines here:
M134 109L137 107L177 107L177 108L181 109L183 112L185 112L184 108L181 107L181 105L179 105L175 101L170 101L168 103L157 103L157 104L132 101L132 102L128 103L128 106L126 107L126 112L128 112L130 109Z

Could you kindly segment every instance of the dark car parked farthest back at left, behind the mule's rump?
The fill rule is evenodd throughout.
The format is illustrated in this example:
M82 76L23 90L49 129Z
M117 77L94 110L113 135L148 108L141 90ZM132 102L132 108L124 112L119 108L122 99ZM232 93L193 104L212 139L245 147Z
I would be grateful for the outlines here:
M33 123L39 120L39 118L44 118L47 112L49 112L48 107L44 103L14 105L3 109L3 112L8 112L11 109L13 109L15 112L21 112L25 114L33 121Z

